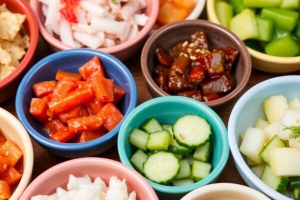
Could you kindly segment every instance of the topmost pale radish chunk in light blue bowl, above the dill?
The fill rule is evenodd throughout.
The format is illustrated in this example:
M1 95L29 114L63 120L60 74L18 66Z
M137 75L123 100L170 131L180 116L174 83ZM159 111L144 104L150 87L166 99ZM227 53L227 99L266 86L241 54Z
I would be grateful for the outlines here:
M287 108L287 100L282 95L271 96L263 101L263 110L270 123L280 119Z

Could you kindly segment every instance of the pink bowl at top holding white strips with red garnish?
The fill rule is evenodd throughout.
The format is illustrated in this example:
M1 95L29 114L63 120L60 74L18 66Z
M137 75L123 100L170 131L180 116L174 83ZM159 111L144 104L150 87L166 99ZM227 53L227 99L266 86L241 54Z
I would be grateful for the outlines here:
M108 47L108 48L99 48L99 50L112 54L120 60L125 60L130 56L132 56L141 47L141 45L144 43L146 39L147 34L150 32L152 26L156 21L158 15L158 9L159 9L159 0L146 0L146 1L147 1L147 7L144 9L144 13L147 16L149 16L149 20L146 23L146 25L139 31L139 33L135 37L121 44ZM41 35L49 43L52 50L59 51L59 50L74 48L72 46L62 43L57 37L50 35L46 31L44 27L45 17L41 11L41 2L39 2L38 0L30 0L30 7L36 15L38 27Z

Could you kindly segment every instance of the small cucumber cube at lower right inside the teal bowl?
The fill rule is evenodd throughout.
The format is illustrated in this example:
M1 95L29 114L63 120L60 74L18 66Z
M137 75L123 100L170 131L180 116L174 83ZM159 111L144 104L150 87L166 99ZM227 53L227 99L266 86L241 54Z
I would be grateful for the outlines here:
M201 162L198 160L193 160L191 165L191 179L201 180L211 171L211 164L206 162Z

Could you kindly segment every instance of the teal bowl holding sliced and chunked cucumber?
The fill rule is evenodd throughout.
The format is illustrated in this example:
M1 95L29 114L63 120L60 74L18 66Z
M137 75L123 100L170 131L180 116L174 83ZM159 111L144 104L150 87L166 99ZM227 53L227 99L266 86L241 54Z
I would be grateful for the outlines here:
M198 114L211 125L212 171L200 181L185 186L167 186L147 179L150 185L162 194L185 194L203 185L214 182L223 170L229 155L227 130L220 117L207 105L197 100L182 96L162 96L148 100L128 114L122 123L117 138L117 148L122 163L133 168L129 162L133 147L128 137L134 127L139 127L145 120L155 117L160 123L174 123L184 114ZM179 195L176 195L179 196Z

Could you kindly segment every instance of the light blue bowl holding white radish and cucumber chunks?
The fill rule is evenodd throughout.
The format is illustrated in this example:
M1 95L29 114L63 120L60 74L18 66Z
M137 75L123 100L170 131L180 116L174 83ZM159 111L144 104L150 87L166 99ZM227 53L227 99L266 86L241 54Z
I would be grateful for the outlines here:
M260 82L246 91L233 107L228 122L228 141L236 168L246 184L276 200L288 200L290 198L276 192L264 184L251 171L244 157L239 152L239 134L247 127L252 127L258 117L265 118L262 102L272 95L283 95L287 100L300 97L300 76L280 76Z

